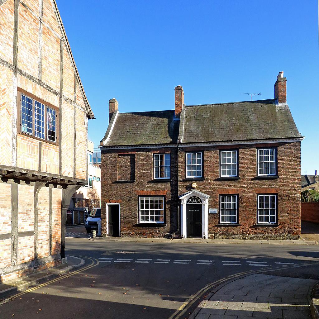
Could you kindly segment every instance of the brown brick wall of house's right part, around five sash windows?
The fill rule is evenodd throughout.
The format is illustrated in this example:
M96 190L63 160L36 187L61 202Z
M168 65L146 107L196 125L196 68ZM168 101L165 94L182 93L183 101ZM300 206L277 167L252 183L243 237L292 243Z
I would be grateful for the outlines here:
M231 149L231 147L230 147ZM179 195L188 192L192 181L185 178L185 152L179 156ZM208 233L215 238L243 238L246 234L255 238L285 238L300 235L300 143L278 145L278 179L257 180L256 145L239 149L240 180L219 181L219 150L217 147L204 150L204 180L196 181L197 190L210 195L208 208L219 209L219 194L228 189L239 193L240 226L219 225L219 214L208 214ZM278 189L278 226L256 225L256 189ZM219 190L219 191L218 191Z

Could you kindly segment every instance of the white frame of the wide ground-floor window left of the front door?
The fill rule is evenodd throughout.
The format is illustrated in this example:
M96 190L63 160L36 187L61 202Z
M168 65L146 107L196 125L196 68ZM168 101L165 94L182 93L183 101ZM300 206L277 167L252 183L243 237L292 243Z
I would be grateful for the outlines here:
M158 200L158 206L156 206L157 203L155 203L156 199ZM160 200L162 201L162 203L160 203ZM141 201L143 201L143 202L141 203ZM147 203L147 201L148 201L148 203ZM151 203L151 201L153 201L153 203ZM162 204L163 208L160 208L160 204ZM157 209L157 207L158 207L158 209ZM148 211L147 215L146 215L146 211ZM156 211L158 211L159 214L155 215ZM151 214L152 212L153 212L153 214ZM161 212L162 212L162 214L161 214ZM142 220L141 216L144 216L144 220ZM146 220L146 216L149 217L149 220ZM153 216L153 220L151 221L152 216ZM159 217L159 221L155 221L156 216ZM162 221L160 221L161 216L163 219ZM138 222L140 224L164 224L164 222L165 222L165 197L163 197L163 196L140 196L140 197L138 197Z

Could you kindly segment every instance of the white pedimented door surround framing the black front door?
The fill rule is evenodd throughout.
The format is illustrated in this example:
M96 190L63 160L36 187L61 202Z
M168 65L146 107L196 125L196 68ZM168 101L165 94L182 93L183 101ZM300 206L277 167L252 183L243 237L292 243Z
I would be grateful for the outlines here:
M208 238L208 198L209 195L199 192L196 189L191 190L190 192L179 196L181 200L181 236L187 238L187 229L186 229L186 204L189 197L197 196L202 200L203 203L203 219L202 219L202 238Z

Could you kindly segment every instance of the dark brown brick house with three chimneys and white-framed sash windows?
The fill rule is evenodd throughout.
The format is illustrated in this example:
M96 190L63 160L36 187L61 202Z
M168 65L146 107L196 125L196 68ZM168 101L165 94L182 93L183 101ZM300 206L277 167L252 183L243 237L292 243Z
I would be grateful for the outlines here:
M177 86L175 110L119 113L112 99L102 235L299 238L302 139L283 72L270 100L186 106Z

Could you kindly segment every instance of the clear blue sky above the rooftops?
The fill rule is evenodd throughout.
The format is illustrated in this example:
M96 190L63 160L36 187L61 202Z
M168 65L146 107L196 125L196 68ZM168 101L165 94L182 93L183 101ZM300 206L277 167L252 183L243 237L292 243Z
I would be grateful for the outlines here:
M120 112L272 99L279 71L301 143L301 174L319 172L316 1L56 0L95 120L95 147Z

